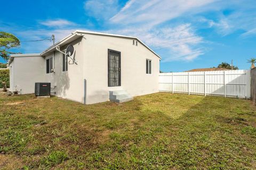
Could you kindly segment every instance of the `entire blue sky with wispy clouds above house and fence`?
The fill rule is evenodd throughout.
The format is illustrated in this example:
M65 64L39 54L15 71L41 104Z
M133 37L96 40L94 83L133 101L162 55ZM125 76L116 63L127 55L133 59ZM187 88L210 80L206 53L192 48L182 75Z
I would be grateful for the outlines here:
M256 57L256 1L5 1L0 31L21 41L60 40L76 29L136 36L163 60L164 72L231 63L249 69ZM21 42L13 52L40 53L50 41ZM0 62L3 62L0 59Z

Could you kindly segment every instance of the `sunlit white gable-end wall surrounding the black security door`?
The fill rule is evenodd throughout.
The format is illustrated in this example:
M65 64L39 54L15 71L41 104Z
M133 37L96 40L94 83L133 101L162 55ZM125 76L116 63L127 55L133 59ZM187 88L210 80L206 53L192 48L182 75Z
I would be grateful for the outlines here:
M86 104L109 100L109 91L123 89L132 96L158 92L159 58L133 39L85 35L84 79ZM121 52L121 86L108 87L108 49ZM152 74L146 74L146 59L152 61Z

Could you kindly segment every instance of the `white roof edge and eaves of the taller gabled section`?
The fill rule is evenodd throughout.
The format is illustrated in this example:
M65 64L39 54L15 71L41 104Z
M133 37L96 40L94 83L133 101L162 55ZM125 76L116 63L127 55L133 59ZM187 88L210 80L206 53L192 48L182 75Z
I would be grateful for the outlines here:
M71 41L74 41L75 39L79 37L83 37L84 34L91 34L91 35L100 35L100 36L110 36L110 37L121 37L121 38L129 38L129 39L136 39L138 40L143 46L148 48L152 53L154 53L157 57L162 59L158 54L156 54L152 49L150 49L146 44L144 44L139 38L137 37L130 37L130 36L123 36L123 35L116 35L116 34L110 34L110 33L102 33L102 32L94 32L94 31L83 31L83 30L76 30L75 32L72 32L71 35L63 38L58 43L50 46L49 48L45 49L41 55L45 55L49 52L52 52L55 50L57 46L66 45L70 43Z

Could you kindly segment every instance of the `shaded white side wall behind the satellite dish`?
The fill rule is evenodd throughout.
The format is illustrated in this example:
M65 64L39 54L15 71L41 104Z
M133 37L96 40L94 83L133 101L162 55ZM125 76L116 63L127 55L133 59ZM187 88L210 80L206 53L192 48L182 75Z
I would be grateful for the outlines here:
M74 54L72 57L76 58L78 64L76 65L68 57L68 71L62 71L62 53L55 51L45 56L44 65L46 65L46 59L53 57L53 73L47 73L46 69L42 74L45 75L45 81L51 82L51 87L55 89L52 92L56 92L55 96L66 98L79 103L84 102L84 85L83 85L83 38L79 38L72 43L74 46ZM61 47L61 50L65 50L66 46Z

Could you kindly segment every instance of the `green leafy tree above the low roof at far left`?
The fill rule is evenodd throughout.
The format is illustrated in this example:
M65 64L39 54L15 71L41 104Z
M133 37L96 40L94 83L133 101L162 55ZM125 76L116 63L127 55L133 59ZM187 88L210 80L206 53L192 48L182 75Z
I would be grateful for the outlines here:
M16 54L9 51L10 48L20 46L20 40L11 33L0 31L0 56L7 61L10 54Z

